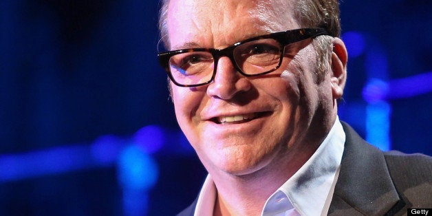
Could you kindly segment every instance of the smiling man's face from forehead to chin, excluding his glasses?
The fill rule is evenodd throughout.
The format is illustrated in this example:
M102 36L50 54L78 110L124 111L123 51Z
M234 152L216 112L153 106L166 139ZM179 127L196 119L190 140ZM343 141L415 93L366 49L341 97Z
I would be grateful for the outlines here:
M255 3L259 5L255 5ZM171 50L222 49L271 32L300 28L290 8L276 1L171 0ZM213 83L178 87L171 83L175 114L206 169L234 175L254 173L316 149L334 118L328 76L316 83L316 54L305 40L291 45L277 71L246 78L228 57L219 59ZM330 116L330 117L329 117ZM325 125L325 128L322 128ZM310 155L309 155L310 156Z

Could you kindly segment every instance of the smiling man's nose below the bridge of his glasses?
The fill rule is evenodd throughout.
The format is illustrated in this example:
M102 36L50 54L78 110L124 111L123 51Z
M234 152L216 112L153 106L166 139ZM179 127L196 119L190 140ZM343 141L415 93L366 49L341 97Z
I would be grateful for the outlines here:
M215 79L207 87L209 96L229 100L238 92L250 89L250 80L237 72L230 58L222 56L215 67Z

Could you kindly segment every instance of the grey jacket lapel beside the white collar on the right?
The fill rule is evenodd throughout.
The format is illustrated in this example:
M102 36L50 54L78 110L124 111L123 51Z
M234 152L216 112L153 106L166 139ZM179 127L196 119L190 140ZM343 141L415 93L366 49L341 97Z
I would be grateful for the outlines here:
M329 215L385 215L399 200L384 155L343 122L341 172Z

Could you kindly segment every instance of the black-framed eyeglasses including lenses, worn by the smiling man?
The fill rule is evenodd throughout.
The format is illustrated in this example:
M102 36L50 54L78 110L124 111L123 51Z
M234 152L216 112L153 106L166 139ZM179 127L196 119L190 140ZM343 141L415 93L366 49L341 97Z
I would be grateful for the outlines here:
M158 54L159 63L175 85L196 87L213 81L217 61L227 56L244 76L268 74L281 66L285 45L319 35L328 35L323 28L303 28L256 36L226 47L191 48Z

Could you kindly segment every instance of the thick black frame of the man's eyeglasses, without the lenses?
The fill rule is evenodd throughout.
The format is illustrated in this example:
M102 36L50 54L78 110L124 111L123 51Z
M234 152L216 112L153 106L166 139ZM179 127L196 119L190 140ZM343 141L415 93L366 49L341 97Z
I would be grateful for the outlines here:
M246 76L246 77L261 76L263 74L268 74L270 72L274 72L275 70L279 69L279 67L281 67L286 45L289 45L291 43L296 43L299 41L303 41L305 39L315 38L316 36L321 36L321 35L330 35L330 34L324 28L300 28L300 29L295 29L295 30L287 30L287 31L283 31L283 32L273 32L270 34L255 36L255 37L252 37L250 39L246 39L244 41L237 42L233 45L230 45L229 47L225 47L224 49L188 48L188 49L160 52L158 54L158 58L159 58L160 66L162 66L165 69L166 74L168 74L170 80L175 85L180 86L180 87L197 87L197 86L201 86L201 85L207 85L208 83L213 82L213 80L215 79L215 76L216 76L216 72L217 72L217 62L219 61L219 58L221 58L222 56L226 56L226 57L230 58L231 63L233 63L233 67L235 67L237 72L239 72L241 75ZM261 40L261 39L274 39L275 41L280 43L281 50L279 50L279 52L281 54L279 57L279 63L276 67L274 67L273 69L270 69L269 71L261 72L258 74L246 74L237 65L237 61L235 61L235 58L234 58L234 50L239 45L242 45L244 43L248 43L250 41L257 41L257 40ZM208 52L213 56L214 68L213 68L213 74L212 74L210 80L208 80L204 83L191 84L191 85L177 83L177 81L173 77L173 74L171 73L169 60L172 56L175 56L177 54L187 53L187 52Z

